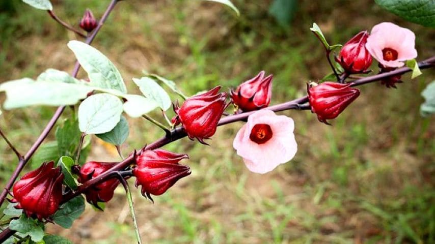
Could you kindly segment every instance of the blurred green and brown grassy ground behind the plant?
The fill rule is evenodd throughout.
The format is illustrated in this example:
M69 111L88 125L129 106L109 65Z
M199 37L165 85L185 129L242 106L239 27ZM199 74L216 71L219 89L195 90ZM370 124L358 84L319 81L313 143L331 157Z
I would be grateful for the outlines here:
M52 0L55 12L75 26L86 8L98 17L108 2ZM416 33L419 60L435 54L433 29L405 22L372 1L298 1L288 27L268 14L271 2L233 0L241 12L237 18L223 5L201 1L122 1L94 46L115 63L131 92L137 92L131 78L143 70L173 79L186 94L217 84L227 89L265 70L274 74L273 103L303 96L307 81L330 72L309 31L313 22L335 44L392 21ZM0 29L0 82L35 78L47 68L72 70L66 43L76 37L46 12L2 0ZM405 75L398 89L361 87L361 96L332 127L309 111L283 112L295 120L299 150L268 174L249 172L235 155L231 145L241 123L219 128L211 147L188 139L168 145L189 154L184 163L193 173L154 204L137 191L145 243L435 243L435 126L433 117L418 111L420 92L434 74L424 70L414 80ZM25 151L54 110L4 111L0 126ZM141 119L129 124L124 154L163 135ZM0 159L3 186L16 165L4 141ZM96 138L90 159L119 160L112 146ZM134 243L118 190L104 213L88 205L71 229L49 225L47 231L74 243Z

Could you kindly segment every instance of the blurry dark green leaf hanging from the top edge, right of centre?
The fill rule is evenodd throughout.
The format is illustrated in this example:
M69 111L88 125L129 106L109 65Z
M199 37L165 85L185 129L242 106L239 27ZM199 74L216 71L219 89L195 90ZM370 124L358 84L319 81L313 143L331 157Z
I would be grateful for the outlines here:
M274 16L277 22L288 27L297 9L297 0L275 0L269 8L269 14Z

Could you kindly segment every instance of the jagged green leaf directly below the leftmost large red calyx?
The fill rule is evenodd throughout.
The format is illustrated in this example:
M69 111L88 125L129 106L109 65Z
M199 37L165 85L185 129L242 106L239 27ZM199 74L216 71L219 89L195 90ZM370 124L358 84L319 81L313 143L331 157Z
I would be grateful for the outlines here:
M26 215L21 215L18 220L13 220L9 223L11 230L16 230L19 233L29 235L33 241L41 241L44 237L44 224L28 218Z

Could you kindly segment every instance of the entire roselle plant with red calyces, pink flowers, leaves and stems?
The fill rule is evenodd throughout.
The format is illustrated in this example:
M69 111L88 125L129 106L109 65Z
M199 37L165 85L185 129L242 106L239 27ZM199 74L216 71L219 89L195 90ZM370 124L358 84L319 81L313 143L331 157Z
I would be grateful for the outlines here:
M237 8L228 0L208 1L226 4L239 15ZM102 210L103 204L112 199L115 188L120 184L126 191L135 234L138 243L141 243L127 180L133 178L142 195L152 200L151 195L165 194L179 180L188 181L191 174L188 151L167 151L159 149L160 147L184 137L207 144L206 140L213 137L218 126L246 121L235 135L235 153L243 159L250 171L264 174L297 155L297 138L293 132L297 130L298 123L303 122L294 121L277 112L290 109L311 110L321 122L333 123L331 120L346 112L346 107L351 106L352 101L364 96L355 86L380 81L388 87L397 87L401 75L412 72L411 78L415 78L421 75L420 69L435 66L435 57L417 63L414 33L396 24L379 23L370 32L361 31L341 46L330 45L319 26L314 23L310 29L320 40L332 73L319 81L307 82L307 95L304 97L269 106L273 75L265 76L264 71L256 76L252 74L251 77L254 78L247 81L240 81L240 85L232 88L229 95L221 90L230 87L222 89L217 86L191 97L184 95L174 82L158 75L146 74L133 79L142 93L134 95L128 93L115 65L103 53L90 46L108 15L121 0L111 0L98 22L92 12L87 10L79 20L79 26L86 34L62 21L53 12L49 0L23 2L46 10L54 20L84 40L71 40L67 44L77 58L71 75L48 69L36 80L23 78L0 84L0 92L5 92L7 97L4 109L36 105L59 106L25 155L0 130L1 136L18 159L14 173L7 184L2 186L4 190L0 195L0 205L8 204L4 211L6 221L0 222L3 225L0 232L2 243L69 243L63 237L45 234L44 224L51 222L64 228L71 227L85 209L85 198ZM128 1L124 2L128 4ZM376 2L391 9L389 1ZM394 12L396 8L392 9ZM410 12L413 16L403 12L397 14L423 25L435 25L433 17L427 17L424 11L421 16L416 16L415 11ZM334 64L331 54L340 47L338 56L334 58L337 64ZM370 74L377 72L370 70L373 60L378 62L378 74ZM84 79L76 77L80 67L87 73ZM365 76L352 77L354 74ZM180 100L171 100L160 83L179 95ZM425 89L423 96L426 103L422 105L421 111L427 116L435 112L433 83ZM75 109L77 106L78 109ZM176 114L172 120L166 115L166 111L171 108ZM61 154L58 162L36 162L39 164L37 169L20 177L23 167L66 109L72 109L77 114L77 119L66 118L56 130L57 146ZM162 118L150 117L148 113L153 110L160 110ZM125 116L143 117L162 129L165 136L144 143L142 148L131 151L123 158L120 146L129 134ZM168 125L160 123L161 119L166 120ZM84 145L87 135L95 135L115 145L122 161L86 162ZM184 163L180 164L182 160Z

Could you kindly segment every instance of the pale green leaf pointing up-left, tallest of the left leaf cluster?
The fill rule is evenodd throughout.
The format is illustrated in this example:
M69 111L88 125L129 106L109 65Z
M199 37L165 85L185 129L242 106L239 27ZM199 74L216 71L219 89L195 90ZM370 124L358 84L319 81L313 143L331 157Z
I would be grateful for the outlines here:
M127 93L121 74L104 54L79 41L70 41L68 47L74 52L78 63L88 73L91 86L116 89L123 94Z

